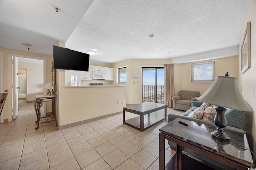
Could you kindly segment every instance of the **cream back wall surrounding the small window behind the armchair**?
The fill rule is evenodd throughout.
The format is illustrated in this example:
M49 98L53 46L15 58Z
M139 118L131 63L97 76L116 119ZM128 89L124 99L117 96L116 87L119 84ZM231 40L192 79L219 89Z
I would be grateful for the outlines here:
M238 56L226 57L221 59L206 60L193 63L202 63L207 61L215 61L215 77L224 76L229 72L230 77L238 77ZM178 95L180 90L196 90L201 94L206 92L212 83L191 83L191 64L175 64L174 65L174 90Z

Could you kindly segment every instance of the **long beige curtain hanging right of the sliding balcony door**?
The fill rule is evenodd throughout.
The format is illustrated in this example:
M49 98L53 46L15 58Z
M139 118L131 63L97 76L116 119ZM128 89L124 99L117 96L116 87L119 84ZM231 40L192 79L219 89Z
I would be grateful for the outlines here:
M174 64L164 64L164 102L167 107L172 107L174 96Z

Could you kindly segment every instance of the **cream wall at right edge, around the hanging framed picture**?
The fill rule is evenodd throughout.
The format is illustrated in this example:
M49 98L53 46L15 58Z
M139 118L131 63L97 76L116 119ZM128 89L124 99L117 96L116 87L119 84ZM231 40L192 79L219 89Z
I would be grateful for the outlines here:
M251 21L251 68L249 68L244 74L240 74L241 70L241 45L244 38L244 32L246 24ZM242 35L240 37L239 44L239 82L241 84L241 92L248 103L248 105L254 110L252 112L246 112L246 136L249 140L250 149L256 152L256 1L248 0L246 16L244 19L244 25L242 29Z

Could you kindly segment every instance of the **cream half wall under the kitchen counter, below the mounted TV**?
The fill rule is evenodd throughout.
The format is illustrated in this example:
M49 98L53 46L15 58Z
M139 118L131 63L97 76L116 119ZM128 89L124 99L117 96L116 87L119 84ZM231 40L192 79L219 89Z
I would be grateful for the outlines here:
M124 87L66 88L65 70L57 70L57 120L58 125L122 111L125 104ZM120 104L117 103L120 101Z

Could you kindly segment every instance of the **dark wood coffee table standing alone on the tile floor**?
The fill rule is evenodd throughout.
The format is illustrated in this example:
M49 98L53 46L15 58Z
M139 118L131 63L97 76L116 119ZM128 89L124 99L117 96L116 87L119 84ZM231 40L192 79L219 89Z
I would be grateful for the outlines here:
M159 112L161 109L164 109L164 114ZM166 109L167 106L165 104L154 102L127 106L123 109L123 123L140 131L144 131L166 119ZM126 111L140 116L125 120Z

